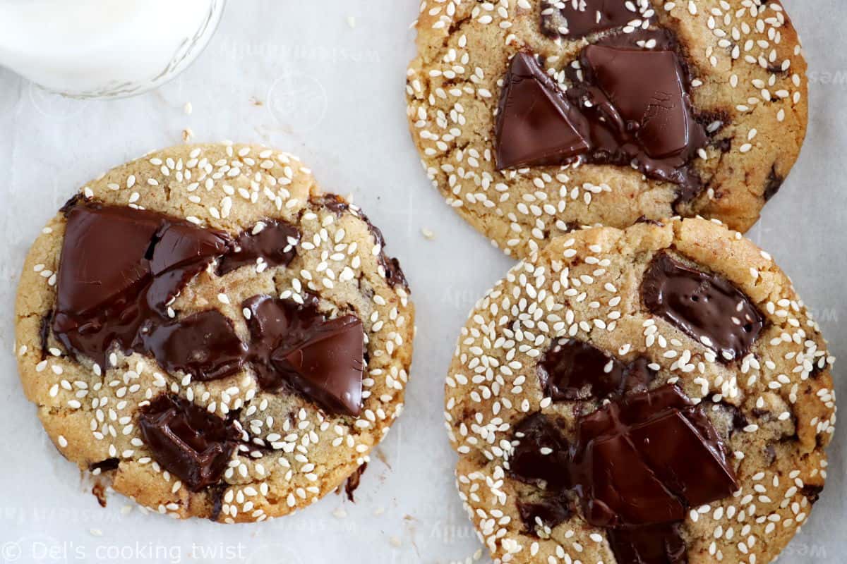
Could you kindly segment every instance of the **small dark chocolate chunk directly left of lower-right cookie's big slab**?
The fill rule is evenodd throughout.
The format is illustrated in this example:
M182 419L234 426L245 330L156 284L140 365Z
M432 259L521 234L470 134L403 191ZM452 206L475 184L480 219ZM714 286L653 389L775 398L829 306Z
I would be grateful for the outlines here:
M512 445L509 468L518 479L543 480L552 488L570 487L570 445L549 417L534 413L523 419L515 427Z

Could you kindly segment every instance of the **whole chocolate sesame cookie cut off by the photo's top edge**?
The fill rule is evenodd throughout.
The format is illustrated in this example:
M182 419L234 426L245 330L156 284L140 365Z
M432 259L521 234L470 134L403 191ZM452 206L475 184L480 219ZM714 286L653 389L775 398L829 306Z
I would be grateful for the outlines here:
M424 0L417 30L424 170L518 258L641 217L745 232L805 137L805 60L776 0Z

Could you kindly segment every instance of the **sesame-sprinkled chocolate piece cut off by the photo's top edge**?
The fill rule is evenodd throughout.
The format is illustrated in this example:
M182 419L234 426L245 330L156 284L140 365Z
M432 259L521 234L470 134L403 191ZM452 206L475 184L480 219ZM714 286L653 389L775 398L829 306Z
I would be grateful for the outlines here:
M541 30L552 38L565 36L579 39L592 33L623 27L634 20L651 19L653 10L642 14L639 8L630 10L634 5L625 0L566 0L559 3L562 7L549 6L541 11Z

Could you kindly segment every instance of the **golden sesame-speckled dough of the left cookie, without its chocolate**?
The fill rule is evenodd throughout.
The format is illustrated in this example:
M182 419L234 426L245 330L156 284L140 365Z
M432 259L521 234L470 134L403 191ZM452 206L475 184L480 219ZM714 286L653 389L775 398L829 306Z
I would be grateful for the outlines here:
M360 416L324 413L303 397L263 392L248 369L219 381L169 374L152 358L118 355L97 375L88 359L64 353L40 329L53 310L55 272L66 219L58 213L32 245L16 303L16 353L26 397L35 403L61 454L82 469L118 458L114 490L173 517L222 523L263 521L318 501L368 461L401 413L412 361L414 308L407 288L386 280L382 242L355 205L324 205L312 172L295 156L258 145L181 145L114 168L80 189L108 205L141 206L232 235L257 222L282 220L302 238L289 266L242 266L222 277L202 272L177 298L188 314L219 309L247 336L241 302L257 294L318 297L325 315L362 320L368 364ZM343 200L341 200L343 201ZM225 298L222 298L225 297ZM237 418L261 457L233 454L219 486L192 492L160 468L141 441L141 405L172 393L219 417ZM97 471L96 471L97 472Z

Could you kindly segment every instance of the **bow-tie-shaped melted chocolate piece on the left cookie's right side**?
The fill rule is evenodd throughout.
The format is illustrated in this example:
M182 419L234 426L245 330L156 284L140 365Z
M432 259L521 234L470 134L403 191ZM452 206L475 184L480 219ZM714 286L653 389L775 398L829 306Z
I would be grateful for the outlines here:
M364 330L352 315L327 320L314 303L257 296L250 309L249 359L269 392L293 385L331 413L362 408Z

